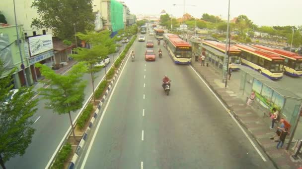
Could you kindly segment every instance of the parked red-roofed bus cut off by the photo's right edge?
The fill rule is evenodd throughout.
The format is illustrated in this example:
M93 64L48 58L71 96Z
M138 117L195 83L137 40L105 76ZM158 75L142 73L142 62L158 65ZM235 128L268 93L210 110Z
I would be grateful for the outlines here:
M267 50L283 57L285 74L293 77L302 76L302 56L298 55L297 53L256 44L253 45L253 47Z

